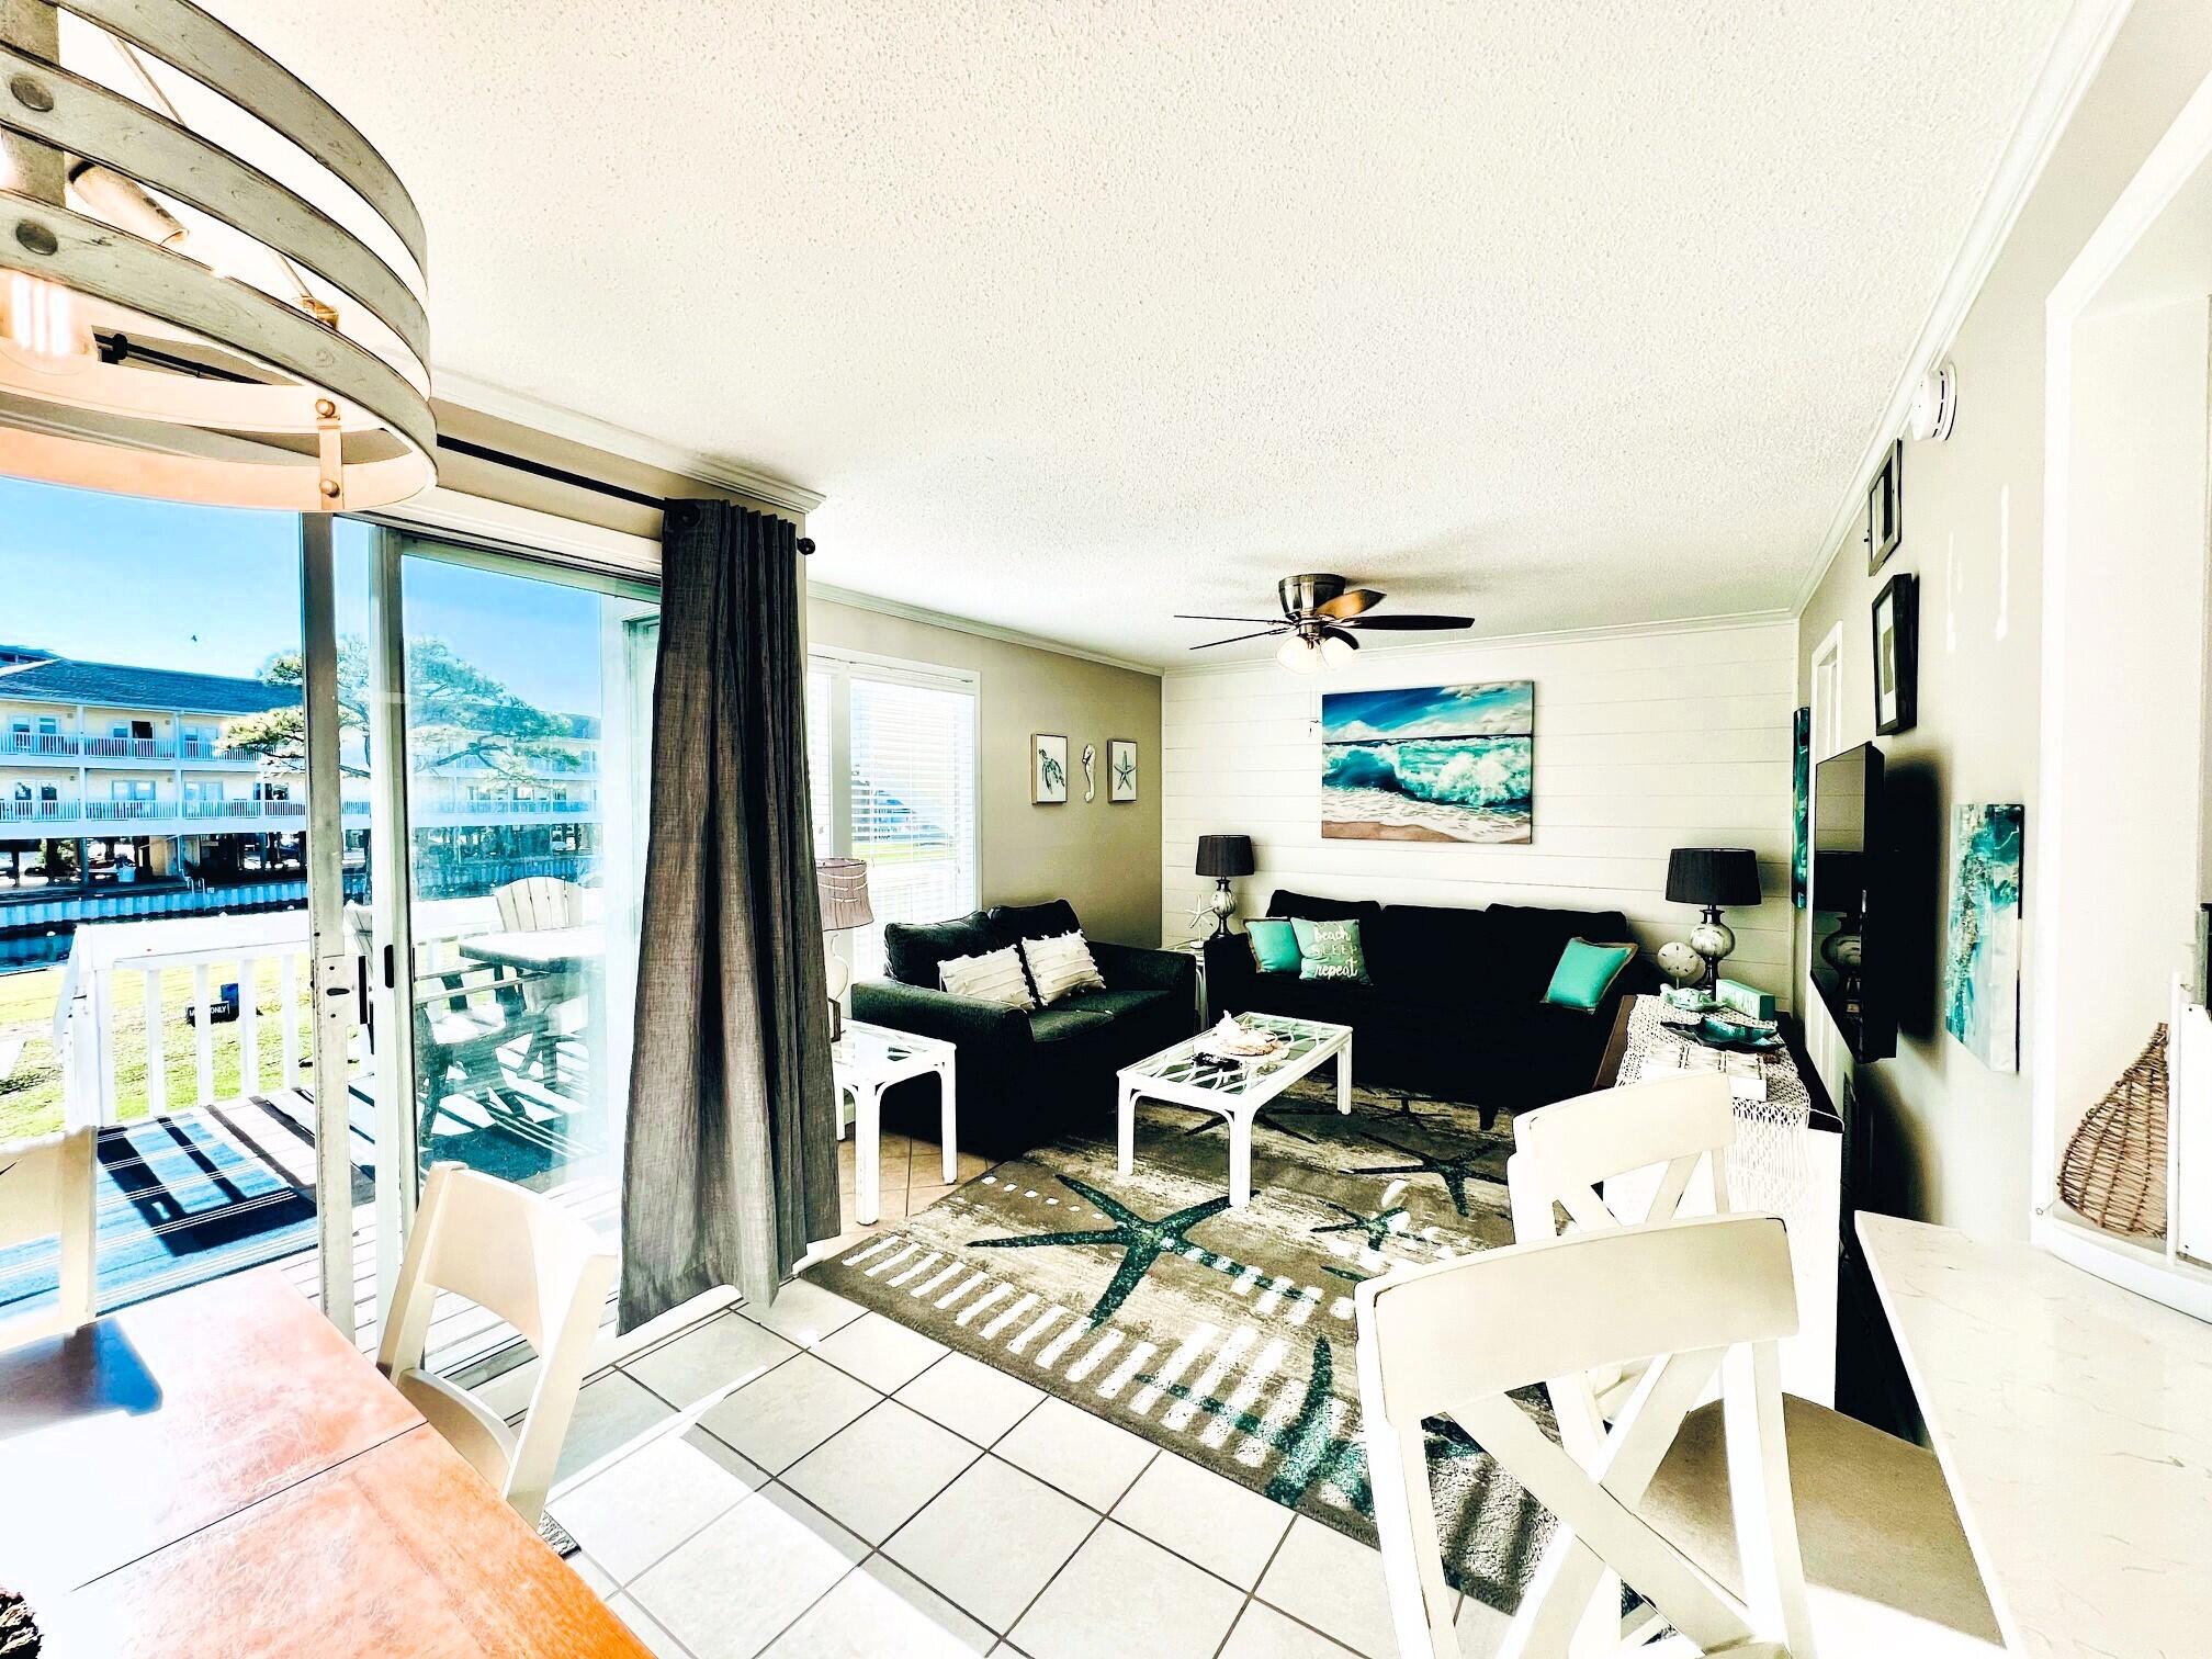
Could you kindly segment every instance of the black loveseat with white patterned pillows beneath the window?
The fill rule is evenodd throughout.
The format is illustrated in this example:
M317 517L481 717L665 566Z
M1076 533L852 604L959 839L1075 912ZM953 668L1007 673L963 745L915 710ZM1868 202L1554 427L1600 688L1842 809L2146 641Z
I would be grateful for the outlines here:
M891 978L852 987L852 1018L942 1037L960 1051L962 1152L1020 1157L1071 1128L1113 1133L1115 1073L1197 1029L1199 964L1181 951L1091 940L1104 991L1075 991L1048 1009L1004 1009L938 989L938 962L998 951L1079 927L1064 898L995 905L951 922L887 922ZM916 1077L883 1095L887 1128L936 1137L938 1082Z

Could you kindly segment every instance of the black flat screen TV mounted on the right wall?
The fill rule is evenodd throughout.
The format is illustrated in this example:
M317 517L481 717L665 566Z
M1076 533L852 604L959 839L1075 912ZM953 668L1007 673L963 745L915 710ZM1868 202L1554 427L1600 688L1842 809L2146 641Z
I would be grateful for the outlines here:
M1898 1051L1893 825L1882 810L1882 752L1834 754L1812 774L1812 982L1854 1060Z

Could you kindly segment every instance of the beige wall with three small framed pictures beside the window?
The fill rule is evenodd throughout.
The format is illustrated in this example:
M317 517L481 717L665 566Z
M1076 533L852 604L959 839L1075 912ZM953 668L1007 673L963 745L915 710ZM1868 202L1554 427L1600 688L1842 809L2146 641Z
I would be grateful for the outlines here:
M980 675L975 726L984 905L1066 898L1093 938L1159 945L1159 677L1055 650L807 602L807 644ZM1029 739L1066 732L1068 801L1029 801ZM1106 801L1106 739L1137 741L1137 799ZM1082 750L1097 748L1084 801Z

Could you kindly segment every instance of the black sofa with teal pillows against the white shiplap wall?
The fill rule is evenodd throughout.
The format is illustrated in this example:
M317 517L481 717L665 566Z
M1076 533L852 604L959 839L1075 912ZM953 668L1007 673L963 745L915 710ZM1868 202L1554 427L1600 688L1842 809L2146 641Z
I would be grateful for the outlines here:
M1582 1095L1613 1033L1624 995L1657 991L1641 956L1595 1013L1544 1002L1571 938L1632 942L1619 911L1491 905L1378 905L1276 891L1267 916L1349 918L1360 925L1369 984L1261 973L1243 933L1206 945L1206 1000L1219 1013L1287 1013L1352 1026L1352 1075L1482 1108L1548 1106Z

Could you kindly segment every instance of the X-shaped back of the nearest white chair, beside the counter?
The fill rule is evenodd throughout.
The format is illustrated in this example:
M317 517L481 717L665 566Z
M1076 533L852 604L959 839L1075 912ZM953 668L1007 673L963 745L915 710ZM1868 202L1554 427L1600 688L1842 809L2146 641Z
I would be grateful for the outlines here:
M1405 1267L1356 1292L1360 1411L1391 1621L1405 1659L1458 1659L1429 1491L1429 1418L1451 1418L1555 1526L1500 1659L1562 1659L1601 1606L1608 1568L1701 1655L1814 1659L1776 1343L1796 1332L1776 1217L1705 1217L1520 1243ZM1513 1398L1586 1389L1595 1367L1650 1358L1586 1467ZM1747 1586L1723 1586L1644 1513L1683 1416L1721 1376L1723 1504ZM1900 1540L1902 1542L1902 1540Z

